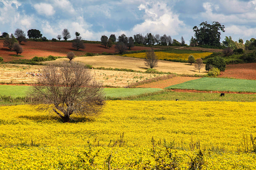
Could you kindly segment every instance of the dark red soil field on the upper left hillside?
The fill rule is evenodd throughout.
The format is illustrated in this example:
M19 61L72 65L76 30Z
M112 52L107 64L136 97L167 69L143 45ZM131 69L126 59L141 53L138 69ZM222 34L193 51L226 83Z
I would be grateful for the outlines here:
M4 47L4 40L0 40L0 57L4 59L4 62L18 60L18 59L31 59L35 56L37 57L47 57L49 55L53 56L66 56L69 51L73 51L75 55L85 55L87 52L90 53L115 53L116 48L113 45L110 49L105 48L105 46L100 44L86 44L84 43L85 49L76 50L72 48L72 42L36 42L27 41L21 42L21 47L23 48L23 53L19 54L21 56L16 56L15 51L10 51L9 48ZM132 47L132 51L150 49L150 47ZM157 48L155 48L157 49Z

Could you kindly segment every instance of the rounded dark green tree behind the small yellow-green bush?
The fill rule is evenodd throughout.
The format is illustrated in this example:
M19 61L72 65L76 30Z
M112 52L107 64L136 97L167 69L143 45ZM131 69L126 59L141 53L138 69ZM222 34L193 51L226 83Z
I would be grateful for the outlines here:
M215 56L209 58L205 63L205 70L209 71L213 67L218 68L220 71L225 71L226 63L222 57Z

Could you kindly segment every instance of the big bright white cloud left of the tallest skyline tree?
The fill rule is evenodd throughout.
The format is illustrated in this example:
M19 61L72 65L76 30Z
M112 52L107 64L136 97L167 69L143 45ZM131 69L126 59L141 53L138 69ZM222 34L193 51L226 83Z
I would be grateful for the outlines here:
M140 4L139 10L144 10L144 22L133 27L134 33L153 34L179 34L180 27L184 26L183 21L179 19L179 15L174 14L170 6L161 2L147 2Z

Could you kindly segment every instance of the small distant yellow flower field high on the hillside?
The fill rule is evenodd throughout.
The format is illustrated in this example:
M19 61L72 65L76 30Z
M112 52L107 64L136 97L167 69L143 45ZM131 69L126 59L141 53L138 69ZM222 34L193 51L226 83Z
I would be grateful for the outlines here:
M188 60L189 55L193 55L195 57L195 59L197 59L197 58L206 57L208 55L211 55L212 53L204 52L204 53L191 53L191 54L177 54L177 53L167 53L167 52L158 51L158 52L155 52L155 54L159 60L164 60L164 59ZM146 53L125 54L123 56L135 57L135 58L145 58Z

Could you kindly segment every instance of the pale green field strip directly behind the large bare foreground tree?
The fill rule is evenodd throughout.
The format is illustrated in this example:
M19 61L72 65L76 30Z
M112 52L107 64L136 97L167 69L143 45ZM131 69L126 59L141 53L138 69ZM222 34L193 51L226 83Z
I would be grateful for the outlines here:
M0 85L0 96L25 97L30 86L26 85ZM107 98L120 98L145 93L157 92L160 88L104 88Z

